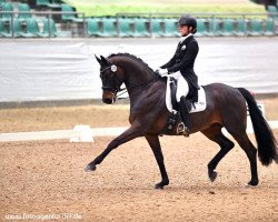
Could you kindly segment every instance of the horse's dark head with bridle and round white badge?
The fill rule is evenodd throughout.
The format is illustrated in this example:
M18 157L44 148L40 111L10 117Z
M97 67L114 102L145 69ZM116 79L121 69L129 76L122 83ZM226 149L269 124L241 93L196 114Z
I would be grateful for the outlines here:
M117 92L120 90L122 83L121 69L117 67L111 60L100 56L96 56L100 64L100 79L102 81L102 101L107 104L116 102Z

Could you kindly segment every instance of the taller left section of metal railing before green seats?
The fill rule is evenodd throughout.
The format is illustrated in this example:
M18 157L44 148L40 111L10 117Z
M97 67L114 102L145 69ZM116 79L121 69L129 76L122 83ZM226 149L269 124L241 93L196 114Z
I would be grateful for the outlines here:
M85 13L0 11L0 38L87 37Z

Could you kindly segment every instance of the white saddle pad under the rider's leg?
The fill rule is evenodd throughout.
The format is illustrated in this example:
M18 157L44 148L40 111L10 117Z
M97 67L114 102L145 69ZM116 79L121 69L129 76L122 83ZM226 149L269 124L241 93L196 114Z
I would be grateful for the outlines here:
M192 112L200 112L206 110L207 101L206 101L206 93L202 87L198 90L198 101L193 103L192 109L189 113ZM170 90L170 78L167 78L167 88L166 88L166 107L169 110L169 112L173 112L176 110L172 109L172 102L171 102L171 90Z

